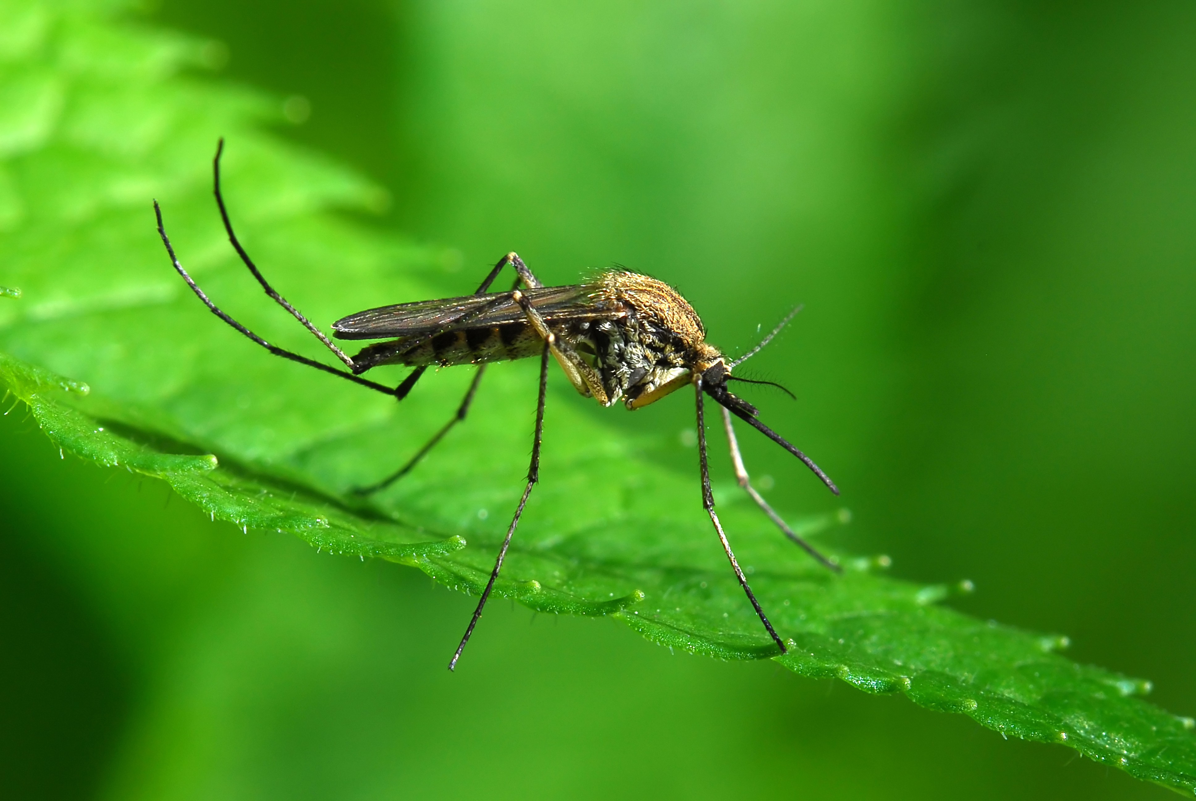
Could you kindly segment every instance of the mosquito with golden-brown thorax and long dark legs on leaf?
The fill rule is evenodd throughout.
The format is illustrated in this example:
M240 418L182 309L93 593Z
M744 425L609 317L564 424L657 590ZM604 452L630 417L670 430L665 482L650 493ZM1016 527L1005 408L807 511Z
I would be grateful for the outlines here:
M514 535L524 508L527 505L527 498L531 496L532 487L539 481L539 453L544 433L544 400L548 390L550 358L561 366L574 389L585 398L593 398L602 406L612 406L616 401L622 400L627 408L637 409L654 403L682 387L692 387L697 415L702 505L710 517L710 523L719 535L731 569L748 595L756 615L781 653L788 653L785 641L776 633L759 601L756 600L756 594L752 593L748 577L739 568L739 562L731 550L731 542L722 529L719 515L714 510L714 494L710 492L710 472L707 463L703 395L710 396L719 405L739 486L748 492L787 538L830 570L840 572L841 569L837 564L794 533L752 486L732 427L732 415L734 415L797 456L831 492L838 494L838 487L835 486L835 483L808 456L764 425L759 420L758 409L728 389L728 384L733 381L771 383L740 378L733 376L732 370L768 345L800 309L789 312L751 351L738 359L728 360L721 351L706 341L706 329L692 307L664 281L616 269L605 272L586 284L544 286L518 254L508 253L494 265L474 295L379 307L337 320L332 323L332 335L336 339L385 340L367 345L356 356L349 357L279 295L262 275L245 248L242 247L233 232L228 210L220 192L220 156L222 152L224 140L221 139L216 147L215 158L212 160L213 194L225 231L228 235L228 242L249 272L266 290L266 293L311 332L347 370L271 345L216 307L179 263L170 238L166 236L161 208L155 200L153 207L158 219L158 235L161 237L171 263L212 314L274 356L330 372L334 376L391 395L396 400L407 398L415 383L432 365L478 365L460 406L444 427L437 431L427 444L397 471L354 492L364 496L378 492L409 473L454 425L465 419L489 363L539 357L539 395L536 402L536 427L526 485L511 523L507 526L507 534L499 548L490 578L478 599L477 608L474 609L465 635L460 638L460 644L448 662L450 670L457 667L457 661L482 617L486 601L502 570L502 562L507 556L511 538ZM515 273L511 290L489 292L490 285L507 267L511 267ZM397 387L388 387L362 377L361 374L384 364L402 364L413 368L413 370ZM785 388L781 387L781 389ZM788 393L788 390L785 392ZM789 395L792 396L792 393Z

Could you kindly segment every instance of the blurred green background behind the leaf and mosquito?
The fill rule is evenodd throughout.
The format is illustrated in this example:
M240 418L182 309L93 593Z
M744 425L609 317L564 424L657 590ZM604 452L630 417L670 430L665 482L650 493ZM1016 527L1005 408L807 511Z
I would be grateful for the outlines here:
M281 133L389 187L373 224L457 248L463 284L512 248L549 283L617 261L730 348L804 303L753 364L799 395L762 402L843 487L842 546L971 578L960 608L1196 712L1196 6L242 0L141 22L306 98ZM1166 793L608 621L495 605L448 675L470 599L213 527L17 413L0 443L11 797ZM834 508L744 444L789 508Z

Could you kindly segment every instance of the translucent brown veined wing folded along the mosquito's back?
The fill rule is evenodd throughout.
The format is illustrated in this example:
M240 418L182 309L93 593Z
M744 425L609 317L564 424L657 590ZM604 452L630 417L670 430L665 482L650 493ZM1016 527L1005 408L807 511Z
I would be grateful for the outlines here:
M594 316L598 312L592 298L594 289L580 284L544 286L523 290L523 293L545 321L551 322ZM366 309L337 320L332 323L332 330L337 339L386 339L493 327L525 320L523 309L511 299L508 292L492 292Z

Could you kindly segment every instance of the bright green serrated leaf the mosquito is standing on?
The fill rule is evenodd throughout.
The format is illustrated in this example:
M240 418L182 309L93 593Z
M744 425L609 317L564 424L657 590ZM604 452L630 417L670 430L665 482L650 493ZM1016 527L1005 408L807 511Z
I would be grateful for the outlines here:
M224 239L208 184L220 135L243 241L312 320L464 293L476 278L453 274L450 254L355 220L384 193L263 133L281 122L281 104L195 74L201 43L72 6L8 2L0 13L0 279L25 290L0 307L7 392L63 455L160 478L213 520L401 562L478 593L526 471L536 365L492 369L465 425L391 490L359 499L353 487L386 475L444 424L471 369L429 375L396 405L271 358L178 280L150 201L161 201L210 297L305 353L318 344L261 295ZM554 375L543 481L498 595L612 615L670 648L904 692L1006 736L1196 789L1192 722L1141 700L1148 682L1058 656L1066 638L939 605L966 584L895 581L877 575L883 558L847 554L844 575L830 575L724 481L715 496L727 530L792 642L775 656L709 529L696 466L666 466L687 450L696 462L691 448L671 432L617 432L603 414ZM828 547L844 518L792 522Z

